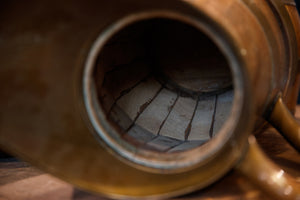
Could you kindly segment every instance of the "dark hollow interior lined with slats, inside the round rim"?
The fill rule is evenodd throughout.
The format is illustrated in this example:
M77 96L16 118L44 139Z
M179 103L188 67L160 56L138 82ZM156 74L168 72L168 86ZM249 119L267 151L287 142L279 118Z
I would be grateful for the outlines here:
M102 47L94 71L102 110L123 141L156 152L201 146L233 101L230 66L214 42L184 22L135 22Z

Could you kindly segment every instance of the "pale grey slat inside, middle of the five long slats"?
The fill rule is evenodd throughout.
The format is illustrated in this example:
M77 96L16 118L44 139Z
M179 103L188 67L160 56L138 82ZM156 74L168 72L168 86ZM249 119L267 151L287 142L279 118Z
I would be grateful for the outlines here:
M189 131L188 126L192 119L195 106L196 100L179 97L159 134L185 140L185 134Z

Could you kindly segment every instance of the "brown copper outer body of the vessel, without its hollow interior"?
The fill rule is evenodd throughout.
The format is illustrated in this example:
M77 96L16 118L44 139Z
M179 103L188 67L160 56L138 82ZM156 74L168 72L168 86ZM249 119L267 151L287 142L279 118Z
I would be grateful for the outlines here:
M258 181L258 172L263 171L270 178L281 170L263 155L252 136L248 141L255 122L260 127L265 118L276 124L272 119L278 98L291 111L295 108L300 28L293 1L1 4L3 149L81 188L112 198L184 194L213 183L236 167L254 177L254 182L264 185L271 195L299 199L299 183L286 174L274 184L265 184L268 179ZM185 154L153 153L150 158L137 152L135 162L118 151L119 147L114 148L120 141L110 138L111 127L101 116L96 120L103 130L99 134L87 106L92 101L86 93L89 87L85 90L83 85L89 60L92 63L93 52L100 50L93 51L99 35L110 32L128 16L140 15L189 23L211 38L230 63L235 99L233 114L224 125L227 129L206 145ZM286 133L287 129L282 130ZM297 140L297 135L289 138ZM295 146L298 144L295 142ZM153 165L149 164L151 158ZM251 171L249 166L255 159L262 164ZM286 193L287 187L293 190ZM279 192L274 193L275 190Z

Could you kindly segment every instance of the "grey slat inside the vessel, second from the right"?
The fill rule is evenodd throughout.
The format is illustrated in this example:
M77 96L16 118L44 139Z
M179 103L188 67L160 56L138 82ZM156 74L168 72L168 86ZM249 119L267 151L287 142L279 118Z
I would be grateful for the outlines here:
M209 140L216 96L199 99L188 140Z

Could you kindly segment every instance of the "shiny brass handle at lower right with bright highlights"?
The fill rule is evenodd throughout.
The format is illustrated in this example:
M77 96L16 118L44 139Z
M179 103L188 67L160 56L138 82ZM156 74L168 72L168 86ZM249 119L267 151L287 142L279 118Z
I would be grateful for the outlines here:
M236 169L274 198L300 200L300 183L269 160L254 136L249 137L249 150Z

